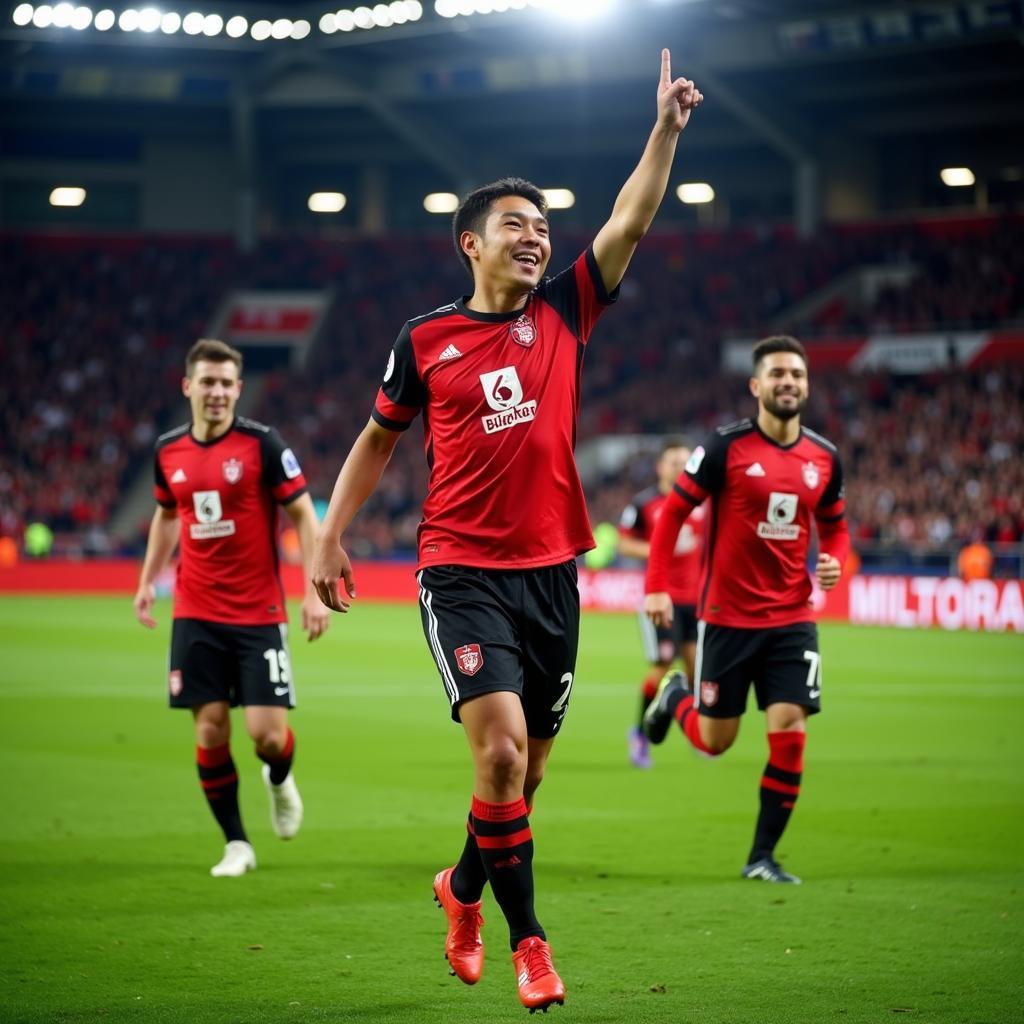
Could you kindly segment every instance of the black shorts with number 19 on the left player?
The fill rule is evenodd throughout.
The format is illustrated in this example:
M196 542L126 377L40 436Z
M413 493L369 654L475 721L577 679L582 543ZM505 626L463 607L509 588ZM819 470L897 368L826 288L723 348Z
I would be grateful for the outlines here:
M226 700L294 708L288 625L227 626L175 618L167 689L172 708Z

